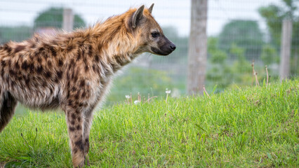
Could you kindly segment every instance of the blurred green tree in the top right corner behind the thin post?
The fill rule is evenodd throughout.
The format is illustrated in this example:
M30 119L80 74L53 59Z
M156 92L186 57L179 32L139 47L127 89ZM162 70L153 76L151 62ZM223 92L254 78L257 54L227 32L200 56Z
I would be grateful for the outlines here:
M283 5L270 4L258 9L260 15L265 18L271 35L271 43L280 48L282 21L293 21L292 50L291 50L291 74L299 74L299 16L298 0L282 0Z

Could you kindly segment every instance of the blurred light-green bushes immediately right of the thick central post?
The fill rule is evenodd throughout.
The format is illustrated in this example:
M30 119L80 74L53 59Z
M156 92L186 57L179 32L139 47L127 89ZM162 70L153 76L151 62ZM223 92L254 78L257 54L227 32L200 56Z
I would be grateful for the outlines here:
M227 55L218 49L216 44L218 38L208 38L208 60L211 62L206 74L206 84L218 85L218 90L223 90L237 83L238 85L250 85L252 78L251 62L245 57L244 48L232 43L229 54L232 59L227 59ZM211 85L210 84L210 85Z

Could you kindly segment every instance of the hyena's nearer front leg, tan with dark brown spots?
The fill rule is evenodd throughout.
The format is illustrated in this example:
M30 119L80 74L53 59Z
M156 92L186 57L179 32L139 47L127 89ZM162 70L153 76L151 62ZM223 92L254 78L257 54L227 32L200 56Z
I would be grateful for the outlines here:
M69 103L69 105L72 105L72 103ZM73 166L84 167L84 120L82 109L67 106L65 114Z

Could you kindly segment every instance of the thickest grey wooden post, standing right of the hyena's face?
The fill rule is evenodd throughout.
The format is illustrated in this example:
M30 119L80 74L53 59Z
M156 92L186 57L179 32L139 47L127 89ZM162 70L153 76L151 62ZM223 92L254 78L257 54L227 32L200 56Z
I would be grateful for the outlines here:
M203 93L206 78L207 8L207 0L192 0L187 78L187 92L190 95Z

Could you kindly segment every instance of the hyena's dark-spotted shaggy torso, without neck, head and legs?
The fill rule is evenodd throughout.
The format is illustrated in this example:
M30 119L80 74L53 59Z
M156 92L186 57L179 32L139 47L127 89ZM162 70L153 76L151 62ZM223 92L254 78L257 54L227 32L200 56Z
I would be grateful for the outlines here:
M88 43L88 38L79 37L78 34L81 33L77 32L72 36L34 36L29 41L11 42L2 46L2 97L9 93L29 107L53 109L79 89L72 88L76 87L74 85L81 86L81 90L84 90L85 84L89 82L88 77L91 76L88 71L98 69L98 66L89 64L92 60L88 61L90 58L87 55L93 57L93 46ZM78 93L75 98L78 99L79 96L82 93Z

